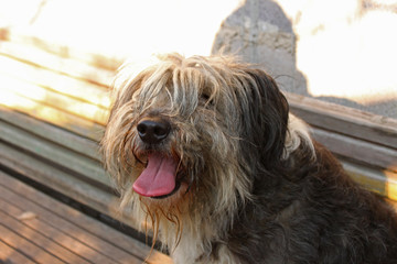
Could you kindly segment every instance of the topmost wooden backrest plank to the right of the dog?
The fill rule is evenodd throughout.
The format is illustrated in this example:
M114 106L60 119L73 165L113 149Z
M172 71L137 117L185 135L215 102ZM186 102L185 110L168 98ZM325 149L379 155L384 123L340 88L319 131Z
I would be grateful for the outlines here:
M311 125L397 148L397 120L286 92L290 109Z

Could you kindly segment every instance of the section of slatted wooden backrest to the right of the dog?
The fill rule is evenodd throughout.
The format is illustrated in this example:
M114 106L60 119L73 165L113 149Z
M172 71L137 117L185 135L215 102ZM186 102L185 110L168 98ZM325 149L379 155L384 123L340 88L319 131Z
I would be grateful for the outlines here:
M287 98L354 179L397 200L397 120L292 94Z

